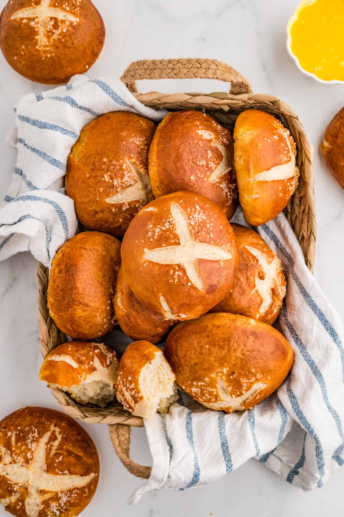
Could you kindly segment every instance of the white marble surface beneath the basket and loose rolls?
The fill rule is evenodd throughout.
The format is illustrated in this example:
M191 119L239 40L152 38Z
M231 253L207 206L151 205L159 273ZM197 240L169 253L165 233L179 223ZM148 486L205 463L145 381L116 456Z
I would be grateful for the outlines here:
M319 153L323 131L343 105L343 86L322 85L302 75L288 56L286 25L297 0L94 0L107 28L104 49L89 74L120 75L136 59L207 57L240 70L256 93L271 93L291 105L315 147L318 239L315 276L344 316L344 191L326 171ZM5 0L0 0L0 8ZM16 160L5 136L14 121L13 104L27 92L46 89L14 72L0 55L0 194L5 195ZM220 82L141 81L139 90L163 92L223 91ZM38 381L41 356L37 323L37 263L28 253L0 263L0 418L24 405L58 408L49 390ZM260 517L328 515L342 512L344 470L320 490L304 494L255 460L225 479L185 492L145 496L135 507L127 497L140 484L111 449L108 429L89 425L98 447L101 476L97 493L84 511L94 515L189 517ZM132 432L133 459L149 464L145 432ZM0 508L0 515L4 510Z

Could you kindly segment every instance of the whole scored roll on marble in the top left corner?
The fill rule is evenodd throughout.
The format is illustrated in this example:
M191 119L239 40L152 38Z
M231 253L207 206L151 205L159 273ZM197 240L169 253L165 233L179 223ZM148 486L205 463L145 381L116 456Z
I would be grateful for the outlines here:
M10 0L0 17L7 63L37 83L66 83L87 72L104 39L103 21L90 0Z

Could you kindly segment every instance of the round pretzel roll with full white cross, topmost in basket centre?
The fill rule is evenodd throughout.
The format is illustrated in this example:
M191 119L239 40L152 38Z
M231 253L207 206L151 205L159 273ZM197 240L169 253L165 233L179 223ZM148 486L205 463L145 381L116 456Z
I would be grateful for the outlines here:
M238 268L225 214L192 192L158 197L143 208L121 253L134 295L167 320L191 320L210 310L229 292Z

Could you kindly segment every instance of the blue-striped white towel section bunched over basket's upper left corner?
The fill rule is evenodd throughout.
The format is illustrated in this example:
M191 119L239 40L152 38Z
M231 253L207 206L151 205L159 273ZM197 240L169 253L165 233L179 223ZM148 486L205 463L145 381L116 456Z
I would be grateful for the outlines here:
M117 78L75 75L66 86L21 97L8 137L18 158L0 207L0 261L29 250L50 266L78 225L73 201L63 189L71 147L91 120L119 110L157 122L167 114L145 107Z

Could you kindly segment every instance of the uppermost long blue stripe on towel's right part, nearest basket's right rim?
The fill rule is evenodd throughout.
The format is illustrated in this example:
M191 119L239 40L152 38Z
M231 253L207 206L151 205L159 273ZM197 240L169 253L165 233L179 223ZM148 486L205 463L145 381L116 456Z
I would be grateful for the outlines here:
M327 320L325 314L322 312L322 310L318 307L317 303L312 299L304 285L302 284L300 278L296 275L295 268L294 268L294 260L293 257L288 253L286 248L283 246L277 235L266 225L263 224L261 226L262 230L265 232L265 234L271 238L271 240L275 243L279 251L287 258L287 260L291 264L291 276L302 294L303 298L306 300L307 305L310 307L310 309L313 311L313 313L317 316L318 320L320 321L321 325L324 327L326 332L331 336L335 344L337 345L340 359L341 359L341 368L342 368L342 376L343 376L343 382L344 382L344 348L342 345L342 342L340 340L340 337L338 336L338 333L333 328L331 323Z

